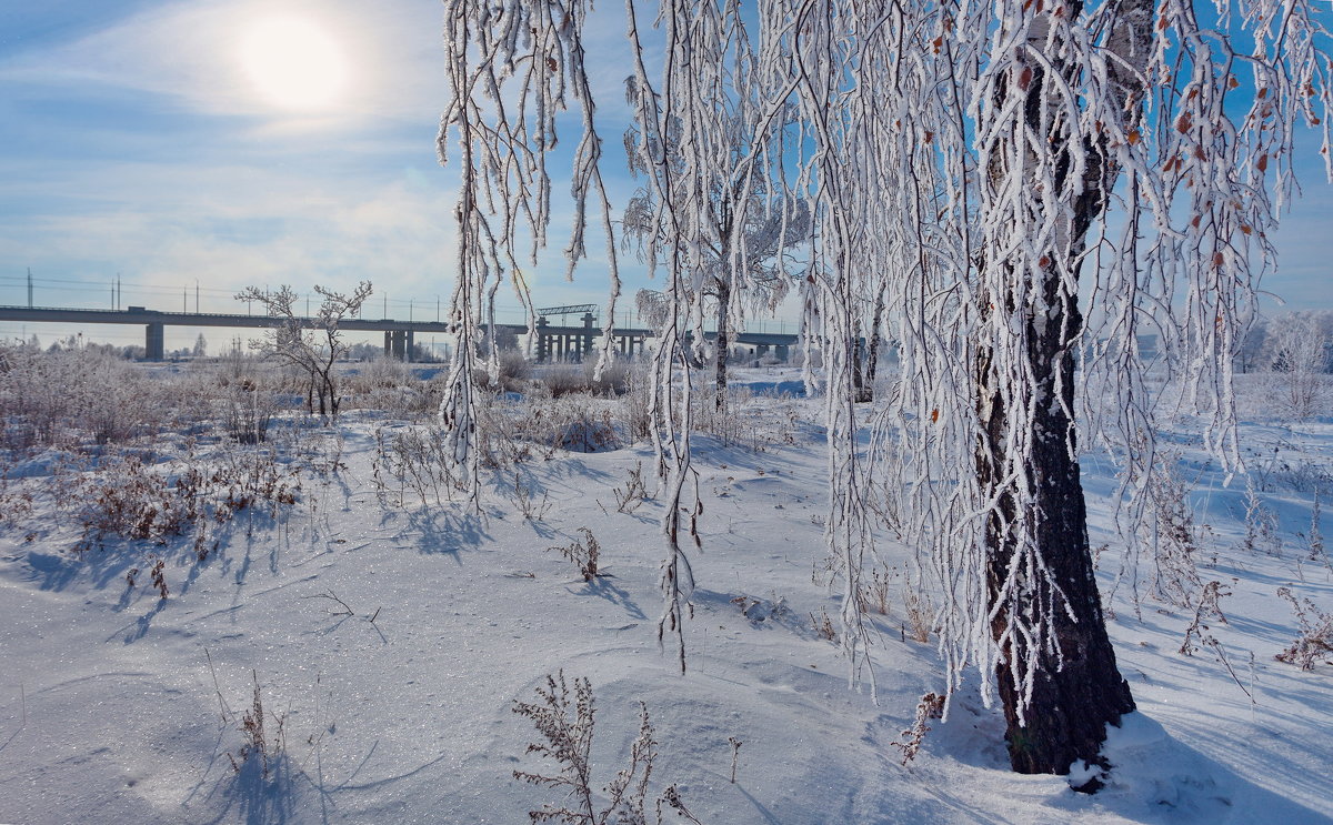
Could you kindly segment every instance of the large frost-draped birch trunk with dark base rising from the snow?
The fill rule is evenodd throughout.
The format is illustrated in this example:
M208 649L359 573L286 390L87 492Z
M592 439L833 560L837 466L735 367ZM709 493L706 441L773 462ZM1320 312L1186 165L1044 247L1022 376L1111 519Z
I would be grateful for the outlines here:
M1146 0L1122 0L1109 41L1120 59L1112 87L1130 123L1145 92L1136 69L1148 55L1150 9ZM1073 4L1065 20L1080 12ZM1026 49L993 89L1000 128L989 147L984 197L993 212L982 223L1000 228L985 249L998 256L1042 240L984 264L984 324L992 336L1018 336L1022 344L982 339L976 400L977 474L993 501L985 526L986 606L1000 646L996 681L1009 761L1020 773L1062 774L1080 760L1106 766L1100 756L1106 725L1118 726L1134 701L1106 636L1073 421L1085 237L1106 209L1117 169L1101 137L1080 133L1062 97L1077 88L1082 69L1062 59L1068 23L1057 17L1038 11L1022 21ZM1033 147L1041 143L1038 152ZM1016 207L1016 200L1026 203ZM1006 232L1021 237L1010 244ZM1090 780L1080 789L1098 786Z

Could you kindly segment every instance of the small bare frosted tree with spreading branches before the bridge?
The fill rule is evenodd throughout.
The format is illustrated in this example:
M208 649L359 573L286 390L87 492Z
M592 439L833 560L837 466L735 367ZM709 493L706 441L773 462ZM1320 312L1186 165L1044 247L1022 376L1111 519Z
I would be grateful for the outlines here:
M319 399L320 416L337 418L343 399L339 397L337 376L333 365L347 356L348 347L339 332L343 319L356 315L371 296L371 283L361 281L351 295L315 287L324 300L313 317L296 315L299 296L285 284L276 292L247 287L237 293L237 301L256 301L264 311L279 319L268 337L251 343L267 357L291 364L307 377L305 407L315 413Z

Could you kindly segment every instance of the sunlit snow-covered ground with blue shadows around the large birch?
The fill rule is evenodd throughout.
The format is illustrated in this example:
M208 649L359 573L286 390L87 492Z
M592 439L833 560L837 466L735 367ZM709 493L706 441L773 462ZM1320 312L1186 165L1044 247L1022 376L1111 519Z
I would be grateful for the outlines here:
M1110 634L1140 713L1112 733L1108 786L1085 796L1064 777L1010 773L1002 717L976 686L902 765L892 742L942 688L933 642L912 638L904 608L909 552L886 536L880 546L889 610L873 614L876 704L848 689L820 632L824 616L836 626L837 596L813 581L818 405L745 404L742 437L696 440L702 550L684 676L669 640L657 645L659 504L619 512L613 492L639 462L651 468L643 444L536 450L491 473L477 517L381 494L376 432L411 425L355 411L339 438L296 430L296 502L276 518L237 512L213 528L203 562L188 536L71 552L77 518L55 509L64 493L47 482L87 470L27 462L5 494L35 490L32 512L0 530L0 822L525 822L563 797L513 778L557 770L525 753L540 737L515 701L537 701L561 672L596 696L595 790L628 765L644 702L657 741L649 810L674 785L709 824L1333 821L1333 665L1274 660L1300 634L1278 588L1333 612L1310 520L1316 490L1333 498L1333 418L1246 424L1253 494L1244 478L1224 484L1189 425L1162 433L1193 486L1198 580L1218 582L1225 622L1204 616L1182 654L1194 610L1146 597L1150 562L1137 610L1121 578ZM185 446L159 449L152 460ZM1122 548L1113 469L1098 454L1082 466L1108 593ZM532 518L516 489L532 493ZM553 549L583 540L579 528L601 548L592 581ZM1333 536L1333 514L1320 529ZM149 581L152 554L167 598ZM241 760L256 681L271 748L284 720L267 777L257 756ZM734 782L729 740L741 742Z

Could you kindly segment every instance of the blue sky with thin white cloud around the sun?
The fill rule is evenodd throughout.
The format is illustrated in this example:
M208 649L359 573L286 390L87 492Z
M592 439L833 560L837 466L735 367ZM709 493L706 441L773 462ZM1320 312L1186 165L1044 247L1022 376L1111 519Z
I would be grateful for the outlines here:
M607 43L591 55L608 104L611 172L621 163L621 127L609 121L627 64L612 45L621 12L603 5ZM415 317L433 317L452 287L456 196L456 177L435 156L445 96L440 16L433 0L5 3L0 303L27 303L28 268L39 305L111 307L120 273L123 305L193 309L197 284L200 308L216 312L235 311L231 295L251 284L304 292L368 279L381 309L387 297L391 315L405 317L411 299ZM273 73L285 69L247 56L273 20L317 31L336 53L325 73L345 79L324 105L275 96ZM1278 237L1281 269L1265 281L1297 309L1333 307L1333 188L1316 147L1305 149L1306 196ZM632 189L616 176L616 208ZM537 273L536 301L600 301L603 261L565 284L560 236ZM595 256L601 248L589 239ZM631 277L629 289L637 285ZM0 336L19 335L11 327L0 324ZM39 331L44 340L48 329ZM139 339L132 329L88 332Z

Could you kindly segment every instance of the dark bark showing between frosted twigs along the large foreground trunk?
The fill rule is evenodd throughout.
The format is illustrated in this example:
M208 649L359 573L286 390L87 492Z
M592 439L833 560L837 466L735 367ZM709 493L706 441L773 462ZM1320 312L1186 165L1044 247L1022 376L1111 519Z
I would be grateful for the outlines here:
M1068 11L1076 16L1080 9L1081 4L1074 3ZM1117 11L1121 17L1110 37L1112 51L1142 60L1148 52L1150 3L1121 0ZM1077 68L1057 63L1054 69L1066 75L1069 85L1077 85ZM1028 127L1036 131L1040 128L1044 69L1033 63L1024 69L1024 75L1029 79L1028 85L1001 87L998 95L1001 99L1009 93L1024 95L1025 119ZM1133 104L1129 107L1133 112L1142 96L1142 89L1136 87L1137 76L1118 67L1113 75L1120 91ZM1069 141L1082 140L1070 135L1068 125L1061 129L1050 136L1057 191L1065 191L1072 168ZM1081 192L1069 204L1070 256L1078 255L1088 229L1104 213L1105 196L1118 172L1100 140L1104 139L1084 140L1082 149L1089 163ZM994 179L1005 173L1002 168L990 171ZM1118 726L1120 717L1134 709L1134 700L1116 666L1088 546L1086 508L1074 460L1077 442L1070 418L1074 408L1074 345L1084 319L1078 308L1077 277L1074 284L1065 284L1060 277L1061 269L1073 271L1077 276L1078 264L1076 260L1057 261L1057 251L1050 251L1041 263L1044 307L1037 309L1040 317L1030 307L1017 307L1012 293L990 296L996 305L982 309L1020 313L1025 325L1029 343L1025 357L1034 377L1032 391L1036 399L1016 399L1014 403L1034 411L1029 433L1032 454L1022 456L1021 461L1033 498L1020 502L1012 492L1000 486L1010 458L1004 452L1009 442L1006 436L1016 424L1000 393L1005 373L997 369L994 353L986 349L978 353L977 361L977 412L985 430L977 449L977 473L982 490L1001 492L986 524L986 605L994 616L992 634L1001 644L996 678L1008 725L1005 741L1009 761L1020 773L1065 774L1078 760L1108 766L1101 756L1106 725ZM1014 272L1013 277L1026 276ZM1012 582L1010 562L1024 549L1022 538L1006 525L1020 516L1018 506L1028 509L1022 516L1032 525L1032 541L1046 574L1018 573L1018 581ZM1017 592L1006 596L1006 582L1016 585ZM1048 630L1038 638L1009 634L1016 620ZM1034 677L1032 694L1025 697L1018 692L1014 674L1029 666L1034 666ZM1092 780L1080 790L1094 792L1100 785L1098 780Z

